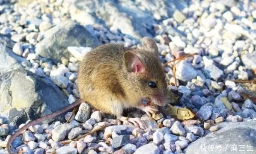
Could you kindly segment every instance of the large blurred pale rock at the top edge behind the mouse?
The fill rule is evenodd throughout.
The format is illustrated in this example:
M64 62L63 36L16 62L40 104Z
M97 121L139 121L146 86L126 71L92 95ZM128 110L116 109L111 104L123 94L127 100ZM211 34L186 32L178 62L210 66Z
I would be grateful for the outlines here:
M79 11L71 17L78 22L103 20L123 34L140 39L152 37L155 19L172 17L176 9L187 7L187 0L76 0L74 4Z

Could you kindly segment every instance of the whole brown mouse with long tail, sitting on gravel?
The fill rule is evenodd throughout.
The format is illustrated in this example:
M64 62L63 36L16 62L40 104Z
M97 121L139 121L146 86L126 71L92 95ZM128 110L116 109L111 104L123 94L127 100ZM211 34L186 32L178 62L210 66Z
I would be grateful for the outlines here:
M80 100L18 129L7 143L9 154L12 141L31 125L59 116L87 102L94 108L110 113L120 121L128 120L145 129L140 118L122 116L125 108L138 108L148 115L157 111L154 105L144 105L142 99L159 106L166 105L167 81L158 58L158 47L152 38L144 37L142 47L126 48L122 44L105 44L88 52L80 63L78 90Z

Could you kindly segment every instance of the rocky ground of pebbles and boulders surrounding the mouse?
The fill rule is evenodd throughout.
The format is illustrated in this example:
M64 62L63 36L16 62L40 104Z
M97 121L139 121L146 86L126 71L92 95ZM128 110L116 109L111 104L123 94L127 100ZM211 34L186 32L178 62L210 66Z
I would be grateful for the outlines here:
M162 63L194 54L164 69L168 88L182 94L173 105L190 108L196 120L129 112L145 122L142 130L83 102L69 123L62 117L71 111L24 131L12 151L253 154L256 102L242 92L255 94L256 84L233 80L255 79L255 9L249 0L0 0L0 154L15 125L79 99L77 71L87 52L107 43L140 46L143 36L155 39Z

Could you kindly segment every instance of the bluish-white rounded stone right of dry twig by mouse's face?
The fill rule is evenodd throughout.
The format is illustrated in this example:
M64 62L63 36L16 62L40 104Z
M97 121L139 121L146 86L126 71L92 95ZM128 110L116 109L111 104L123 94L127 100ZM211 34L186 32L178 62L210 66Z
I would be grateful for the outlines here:
M176 77L182 81L191 81L197 75L197 71L186 61L181 61L176 65Z

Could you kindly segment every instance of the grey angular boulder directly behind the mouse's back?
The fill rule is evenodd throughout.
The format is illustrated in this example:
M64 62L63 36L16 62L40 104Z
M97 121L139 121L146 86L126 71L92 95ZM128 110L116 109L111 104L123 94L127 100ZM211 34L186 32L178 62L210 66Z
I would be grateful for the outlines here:
M98 38L71 20L65 20L43 34L45 38L36 44L36 54L49 58L55 63L59 62L61 57L72 56L68 52L68 46L96 47L101 45Z

